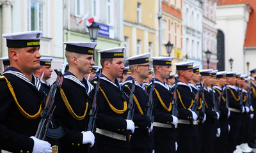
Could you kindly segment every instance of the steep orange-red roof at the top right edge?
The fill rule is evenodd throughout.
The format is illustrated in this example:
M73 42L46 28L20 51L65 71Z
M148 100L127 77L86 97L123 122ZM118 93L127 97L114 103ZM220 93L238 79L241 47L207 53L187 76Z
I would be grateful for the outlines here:
M256 8L255 0L247 0L252 8ZM250 13L249 22L247 24L244 47L256 47L256 12Z

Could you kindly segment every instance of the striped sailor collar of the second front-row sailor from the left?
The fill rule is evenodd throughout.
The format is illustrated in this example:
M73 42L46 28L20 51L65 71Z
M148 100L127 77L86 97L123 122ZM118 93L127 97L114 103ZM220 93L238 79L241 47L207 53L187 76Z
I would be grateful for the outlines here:
M75 82L76 84L80 85L81 87L84 87L84 89L86 89L87 95L89 96L90 92L93 89L93 85L90 84L90 82L88 82L85 78L83 78L83 83L78 80L78 78L71 73L70 71L67 71L64 75L64 78L67 78L68 80L72 80L73 82Z

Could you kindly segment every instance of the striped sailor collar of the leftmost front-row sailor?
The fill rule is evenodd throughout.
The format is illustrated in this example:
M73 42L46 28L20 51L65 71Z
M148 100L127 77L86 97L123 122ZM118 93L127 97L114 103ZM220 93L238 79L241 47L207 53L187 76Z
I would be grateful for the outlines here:
M38 91L40 91L41 89L41 82L38 78L36 78L34 75L32 75L32 82L30 82L28 80L28 78L17 68L14 67L8 67L5 69L5 71L2 73L2 75L4 74L12 74L15 75L16 77L19 77L20 79L24 80L25 82L28 82L28 84L33 85L34 87L36 87L36 89Z

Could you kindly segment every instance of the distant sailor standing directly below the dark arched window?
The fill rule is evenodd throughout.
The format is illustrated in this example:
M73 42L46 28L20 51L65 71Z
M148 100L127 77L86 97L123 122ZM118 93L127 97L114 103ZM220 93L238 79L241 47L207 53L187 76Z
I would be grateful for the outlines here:
M219 104L219 111L220 111L220 136L216 137L216 140L214 142L214 152L215 153L224 153L225 149L227 147L227 138L228 138L228 117L230 115L230 111L226 107L226 96L225 96L225 83L227 82L226 78L227 71L219 71L216 73L217 80L216 84L213 86L213 89L216 93L216 96L219 98L220 94L223 93L223 96L221 96L220 101L218 101Z

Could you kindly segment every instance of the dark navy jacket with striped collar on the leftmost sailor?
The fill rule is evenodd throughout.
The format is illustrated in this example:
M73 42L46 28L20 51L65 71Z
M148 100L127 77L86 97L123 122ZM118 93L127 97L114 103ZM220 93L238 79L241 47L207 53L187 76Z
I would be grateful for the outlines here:
M40 80L28 80L18 69L9 67L2 74L12 85L17 101L0 79L0 148L10 152L32 152L40 118L40 105L44 105ZM43 108L43 106L42 106ZM26 115L27 114L27 115ZM36 115L37 114L37 115ZM35 115L35 117L33 117Z

